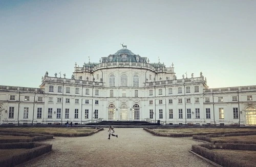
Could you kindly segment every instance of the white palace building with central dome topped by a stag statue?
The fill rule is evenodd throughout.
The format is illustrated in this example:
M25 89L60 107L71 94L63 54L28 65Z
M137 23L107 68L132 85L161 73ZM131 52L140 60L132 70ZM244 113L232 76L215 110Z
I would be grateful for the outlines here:
M177 78L173 64L123 48L99 63L75 64L71 78L46 72L39 88L0 86L0 124L256 125L255 99L256 86L209 89L202 72Z

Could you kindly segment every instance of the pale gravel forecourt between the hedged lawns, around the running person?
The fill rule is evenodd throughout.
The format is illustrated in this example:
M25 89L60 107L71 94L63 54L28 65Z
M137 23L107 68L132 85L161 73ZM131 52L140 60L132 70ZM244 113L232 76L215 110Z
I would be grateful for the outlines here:
M214 166L189 152L200 144L191 137L159 137L142 128L115 128L115 134L108 140L104 128L87 137L54 137L44 142L53 152L18 166Z

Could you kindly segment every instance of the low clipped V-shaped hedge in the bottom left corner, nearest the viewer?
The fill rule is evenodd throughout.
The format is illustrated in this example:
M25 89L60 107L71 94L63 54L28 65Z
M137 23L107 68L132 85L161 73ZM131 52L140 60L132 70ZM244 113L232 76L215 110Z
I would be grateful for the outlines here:
M0 144L1 149L17 149L17 148L25 148L29 149L24 151L20 154L13 155L7 158L0 160L1 166L15 166L17 164L26 162L30 159L38 157L42 154L48 153L52 150L52 145L50 144L40 144L37 142L31 143L7 143L7 144Z

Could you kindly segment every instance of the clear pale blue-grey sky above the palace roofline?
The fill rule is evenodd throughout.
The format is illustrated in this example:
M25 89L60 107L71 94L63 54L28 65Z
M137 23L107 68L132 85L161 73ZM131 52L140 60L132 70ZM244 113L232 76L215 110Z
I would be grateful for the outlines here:
M38 88L46 71L71 78L75 62L120 43L174 63L178 79L202 71L209 88L256 85L255 30L249 0L0 0L0 85Z

